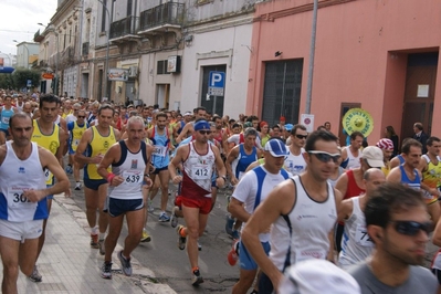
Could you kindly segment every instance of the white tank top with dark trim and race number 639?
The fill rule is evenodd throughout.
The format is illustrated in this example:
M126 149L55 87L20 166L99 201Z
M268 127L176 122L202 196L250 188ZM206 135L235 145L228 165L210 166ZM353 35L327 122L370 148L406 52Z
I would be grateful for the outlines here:
M124 181L117 187L108 187L108 196L122 200L143 199L146 144L141 141L141 147L136 154L130 153L124 140L118 144L122 155L119 161L112 165L112 172L122 176Z

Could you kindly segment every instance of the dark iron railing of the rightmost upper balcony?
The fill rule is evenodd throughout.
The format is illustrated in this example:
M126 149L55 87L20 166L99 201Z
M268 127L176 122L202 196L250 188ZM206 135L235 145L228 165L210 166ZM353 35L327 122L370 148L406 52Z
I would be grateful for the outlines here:
M165 24L181 25L183 3L164 3L140 12L139 30L145 31Z

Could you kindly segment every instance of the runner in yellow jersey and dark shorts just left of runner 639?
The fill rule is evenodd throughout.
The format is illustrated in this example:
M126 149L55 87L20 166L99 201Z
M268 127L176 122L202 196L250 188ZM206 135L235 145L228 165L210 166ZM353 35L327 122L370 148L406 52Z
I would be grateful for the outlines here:
M107 197L107 180L97 172L97 166L112 145L119 140L119 130L111 126L114 108L104 104L98 109L97 125L86 129L75 153L75 161L84 167L84 196L86 199L86 218L91 227L91 246L99 249L104 255L104 237L107 230L107 214L104 203ZM86 153L86 155L84 155ZM96 219L96 210L99 219ZM98 228L96 228L98 223ZM98 237L99 231L99 237Z

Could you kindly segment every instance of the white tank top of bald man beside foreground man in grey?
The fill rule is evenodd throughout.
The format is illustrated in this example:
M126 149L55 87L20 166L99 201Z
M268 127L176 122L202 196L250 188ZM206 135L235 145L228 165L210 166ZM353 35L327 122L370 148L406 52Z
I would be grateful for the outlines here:
M367 233L365 213L360 209L359 199L359 197L350 198L353 214L345 221L342 251L338 258L338 265L342 269L364 261L374 251L374 243Z

